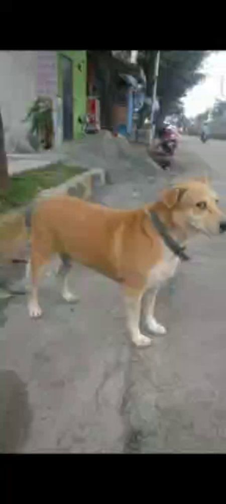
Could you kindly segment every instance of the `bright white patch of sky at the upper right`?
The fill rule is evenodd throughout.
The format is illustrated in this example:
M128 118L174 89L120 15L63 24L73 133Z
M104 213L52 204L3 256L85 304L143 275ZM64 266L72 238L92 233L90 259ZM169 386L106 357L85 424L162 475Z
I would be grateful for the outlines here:
M211 53L204 59L200 70L206 74L205 80L188 91L183 99L187 117L204 112L213 105L216 98L226 99L226 51ZM222 76L224 76L224 96L220 92Z

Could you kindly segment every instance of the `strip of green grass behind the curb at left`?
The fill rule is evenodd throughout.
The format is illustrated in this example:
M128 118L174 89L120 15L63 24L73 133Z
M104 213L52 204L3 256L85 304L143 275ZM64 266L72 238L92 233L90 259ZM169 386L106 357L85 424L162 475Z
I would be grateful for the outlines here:
M10 189L0 196L0 213L21 207L33 200L40 191L55 187L68 178L84 172L79 166L67 166L63 163L49 164L44 168L27 170L10 177Z

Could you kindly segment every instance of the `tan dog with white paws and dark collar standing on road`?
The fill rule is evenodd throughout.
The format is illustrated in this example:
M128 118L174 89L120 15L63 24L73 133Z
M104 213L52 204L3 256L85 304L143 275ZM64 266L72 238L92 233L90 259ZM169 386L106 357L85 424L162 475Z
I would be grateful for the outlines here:
M164 334L154 318L154 305L161 283L174 274L179 258L187 259L179 243L197 233L225 230L216 195L204 179L181 182L157 203L138 210L115 210L69 196L42 202L32 217L30 316L41 316L41 267L57 253L63 260L64 299L74 299L67 283L70 258L121 285L132 341L150 345L151 339L139 329L142 299L147 328Z

